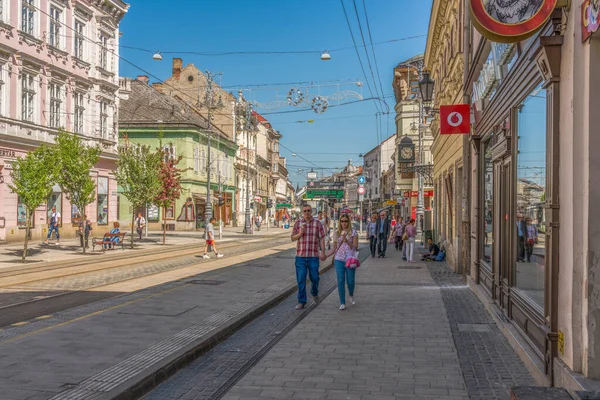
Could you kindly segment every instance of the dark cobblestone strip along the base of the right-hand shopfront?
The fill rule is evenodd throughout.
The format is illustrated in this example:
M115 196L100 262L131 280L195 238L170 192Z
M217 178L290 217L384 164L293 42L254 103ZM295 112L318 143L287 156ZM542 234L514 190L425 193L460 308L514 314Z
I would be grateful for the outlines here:
M445 263L427 263L440 286L469 397L508 399L513 386L535 386L533 377L483 304Z

